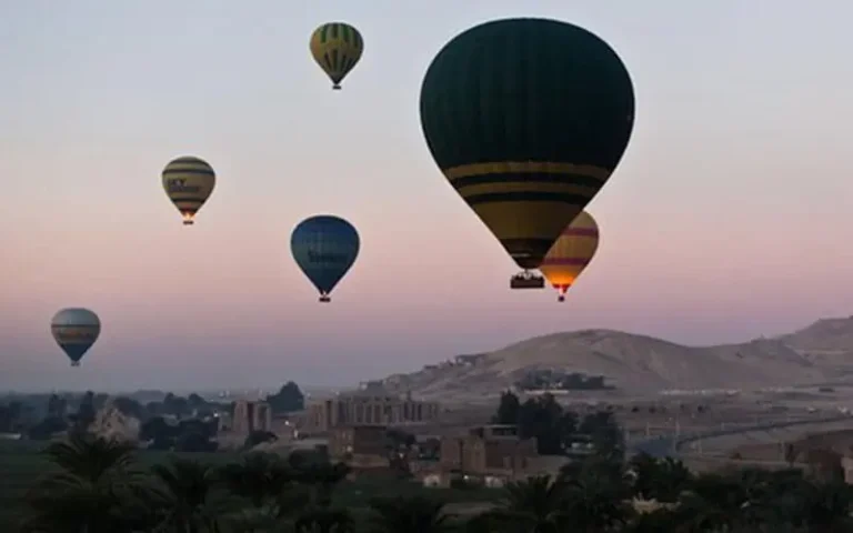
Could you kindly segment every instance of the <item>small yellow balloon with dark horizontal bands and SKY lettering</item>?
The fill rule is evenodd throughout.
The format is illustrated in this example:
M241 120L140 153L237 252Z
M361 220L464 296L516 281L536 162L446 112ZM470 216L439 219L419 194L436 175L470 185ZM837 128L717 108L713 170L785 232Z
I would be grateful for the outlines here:
M163 189L181 212L184 225L194 222L195 213L208 201L215 184L213 168L192 155L178 158L163 169Z

